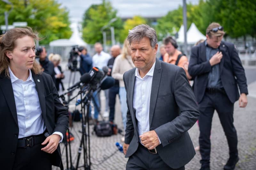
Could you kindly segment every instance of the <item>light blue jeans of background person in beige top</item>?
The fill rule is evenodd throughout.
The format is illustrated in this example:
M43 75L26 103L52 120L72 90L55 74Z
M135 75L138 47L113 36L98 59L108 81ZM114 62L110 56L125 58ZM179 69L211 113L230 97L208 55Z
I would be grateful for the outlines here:
M124 87L119 87L119 96L121 103L122 119L124 124L124 130L126 128L126 114L127 114L127 103L126 103L126 91Z

